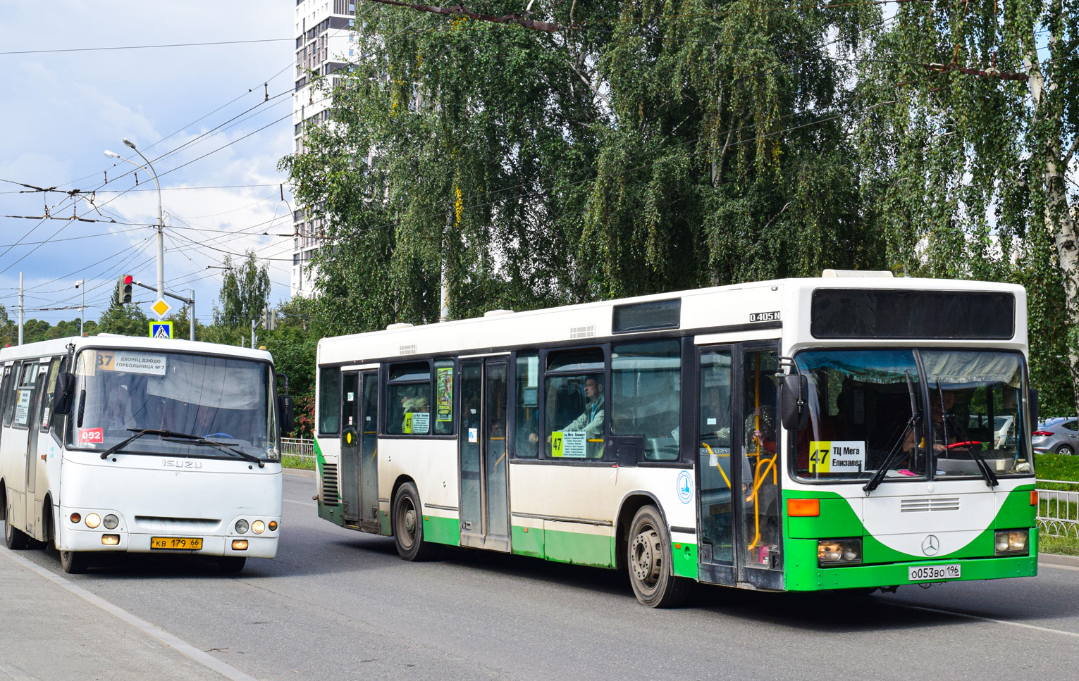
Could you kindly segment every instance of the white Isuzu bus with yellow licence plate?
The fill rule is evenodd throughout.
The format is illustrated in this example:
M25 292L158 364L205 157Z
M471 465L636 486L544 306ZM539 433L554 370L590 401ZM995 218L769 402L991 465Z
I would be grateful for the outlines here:
M237 572L281 531L269 352L101 334L0 350L0 512L9 548L190 554ZM286 379L287 380L287 379Z

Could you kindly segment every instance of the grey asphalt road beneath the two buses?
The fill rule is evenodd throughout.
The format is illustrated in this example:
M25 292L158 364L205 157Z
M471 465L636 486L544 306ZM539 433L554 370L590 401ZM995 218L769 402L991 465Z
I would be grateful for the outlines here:
M153 556L67 579L258 679L1079 677L1079 568L862 598L698 586L656 611L607 570L405 562L393 540L319 519L314 490L286 475L278 557L238 576ZM18 554L62 574L54 552Z

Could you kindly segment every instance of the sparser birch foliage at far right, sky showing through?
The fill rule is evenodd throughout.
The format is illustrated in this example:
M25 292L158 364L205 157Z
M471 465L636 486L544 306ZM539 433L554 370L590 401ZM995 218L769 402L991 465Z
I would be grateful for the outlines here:
M1077 28L1079 5L1061 0L904 3L871 31L857 87L863 196L887 261L1025 286L1032 384L1060 414L1079 408L1079 235L1051 169L1077 139Z

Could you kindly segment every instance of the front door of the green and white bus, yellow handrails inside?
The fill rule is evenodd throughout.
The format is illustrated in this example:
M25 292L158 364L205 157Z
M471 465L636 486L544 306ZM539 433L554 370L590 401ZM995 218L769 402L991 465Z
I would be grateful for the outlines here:
M782 588L777 352L766 346L698 352L699 576Z

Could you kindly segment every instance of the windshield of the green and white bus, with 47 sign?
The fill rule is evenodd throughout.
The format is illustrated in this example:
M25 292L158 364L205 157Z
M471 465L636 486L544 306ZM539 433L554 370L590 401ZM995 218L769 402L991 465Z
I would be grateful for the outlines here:
M795 361L809 379L802 478L864 481L882 465L884 482L1032 473L1017 352L811 350Z

